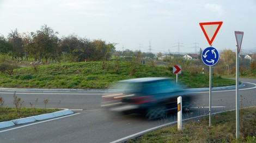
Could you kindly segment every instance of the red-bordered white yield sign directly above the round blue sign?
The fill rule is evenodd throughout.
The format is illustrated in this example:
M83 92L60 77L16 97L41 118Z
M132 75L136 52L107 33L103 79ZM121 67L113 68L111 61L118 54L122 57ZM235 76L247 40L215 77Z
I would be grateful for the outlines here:
M210 46L214 41L214 38L217 35L218 30L220 30L222 23L222 21L199 23Z

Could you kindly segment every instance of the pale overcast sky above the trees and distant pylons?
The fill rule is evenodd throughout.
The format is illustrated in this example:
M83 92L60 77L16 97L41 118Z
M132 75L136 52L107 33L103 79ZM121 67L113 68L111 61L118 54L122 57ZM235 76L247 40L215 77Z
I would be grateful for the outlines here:
M76 34L118 43L116 50L195 53L209 44L200 22L223 21L212 43L235 50L234 31L244 31L242 52L256 52L256 0L0 0L0 34L35 32L46 24L59 37ZM197 43L197 45L195 44Z

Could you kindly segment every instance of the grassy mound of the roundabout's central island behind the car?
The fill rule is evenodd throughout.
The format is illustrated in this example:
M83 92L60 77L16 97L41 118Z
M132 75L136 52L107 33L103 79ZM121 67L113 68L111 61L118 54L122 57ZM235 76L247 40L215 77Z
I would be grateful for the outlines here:
M137 65L137 66L135 66ZM133 62L80 62L25 67L14 70L13 75L0 74L0 87L7 88L69 88L106 89L112 82L137 77L172 77L176 75L165 66L149 66ZM209 87L209 74L189 73L182 70L178 82L188 88ZM235 80L212 77L212 87L235 85Z

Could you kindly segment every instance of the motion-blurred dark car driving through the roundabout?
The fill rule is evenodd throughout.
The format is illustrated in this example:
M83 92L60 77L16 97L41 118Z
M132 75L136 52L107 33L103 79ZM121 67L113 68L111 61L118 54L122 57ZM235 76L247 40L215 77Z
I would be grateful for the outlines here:
M125 114L139 113L149 120L177 109L182 96L182 110L189 109L190 92L166 77L145 77L116 82L109 88L112 94L102 96L101 107Z

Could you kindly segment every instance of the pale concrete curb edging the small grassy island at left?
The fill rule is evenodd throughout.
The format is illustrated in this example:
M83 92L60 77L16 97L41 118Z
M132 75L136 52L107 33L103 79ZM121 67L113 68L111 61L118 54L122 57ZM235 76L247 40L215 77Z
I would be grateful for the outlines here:
M70 115L70 114L74 114L74 112L70 111L70 109L64 109L63 111L57 111L57 112L53 112L53 113L47 113L47 114L42 114L42 115L30 116L27 118L21 118L21 119L15 119L15 120L11 120L11 121L0 122L0 129L15 126L15 125L26 124L26 123L34 122L34 121L41 121L41 120L56 118L59 116L65 116L65 115Z

